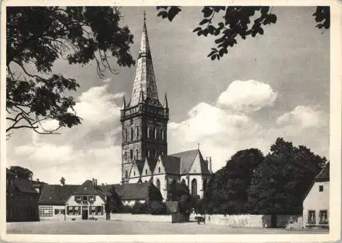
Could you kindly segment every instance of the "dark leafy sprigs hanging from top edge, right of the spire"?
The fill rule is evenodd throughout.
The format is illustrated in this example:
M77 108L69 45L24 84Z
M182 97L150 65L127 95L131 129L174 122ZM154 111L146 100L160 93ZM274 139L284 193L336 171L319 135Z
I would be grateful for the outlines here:
M179 6L159 6L158 16L172 21L181 12ZM215 40L216 47L211 48L208 57L211 60L220 60L220 57L228 53L228 48L237 44L239 38L263 35L263 27L276 23L277 16L272 14L269 6L205 6L202 8L203 18L194 29L198 36L218 36ZM220 16L224 21L215 22L215 16ZM315 13L315 21L319 29L330 28L330 8L318 6Z

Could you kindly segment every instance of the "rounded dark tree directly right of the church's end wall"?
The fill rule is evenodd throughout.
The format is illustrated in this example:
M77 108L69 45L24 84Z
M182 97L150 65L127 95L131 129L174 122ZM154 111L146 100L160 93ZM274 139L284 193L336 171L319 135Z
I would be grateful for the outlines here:
M247 190L255 169L263 159L263 153L259 149L237 151L226 166L213 173L204 196L208 212L247 213Z

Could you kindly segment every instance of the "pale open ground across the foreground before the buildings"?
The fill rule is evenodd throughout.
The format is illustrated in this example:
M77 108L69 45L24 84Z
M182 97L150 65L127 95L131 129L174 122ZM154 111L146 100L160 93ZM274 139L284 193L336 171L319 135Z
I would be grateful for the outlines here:
M88 234L88 235L137 235L137 234L232 234L232 233L328 233L328 229L252 229L231 228L223 225L198 225L197 222L172 224L171 222L128 221L41 221L8 222L7 233L30 234Z

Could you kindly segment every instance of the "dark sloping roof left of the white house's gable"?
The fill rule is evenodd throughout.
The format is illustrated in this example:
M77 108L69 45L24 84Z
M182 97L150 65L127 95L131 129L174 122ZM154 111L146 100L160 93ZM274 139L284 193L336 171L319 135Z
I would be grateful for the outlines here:
M64 205L79 185L45 185L39 204Z

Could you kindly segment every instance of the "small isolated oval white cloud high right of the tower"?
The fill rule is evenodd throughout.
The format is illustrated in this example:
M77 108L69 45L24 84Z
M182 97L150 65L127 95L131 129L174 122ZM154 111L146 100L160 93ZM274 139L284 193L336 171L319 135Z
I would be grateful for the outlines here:
M241 112L255 112L272 106L277 93L261 81L233 81L218 97L218 104Z

